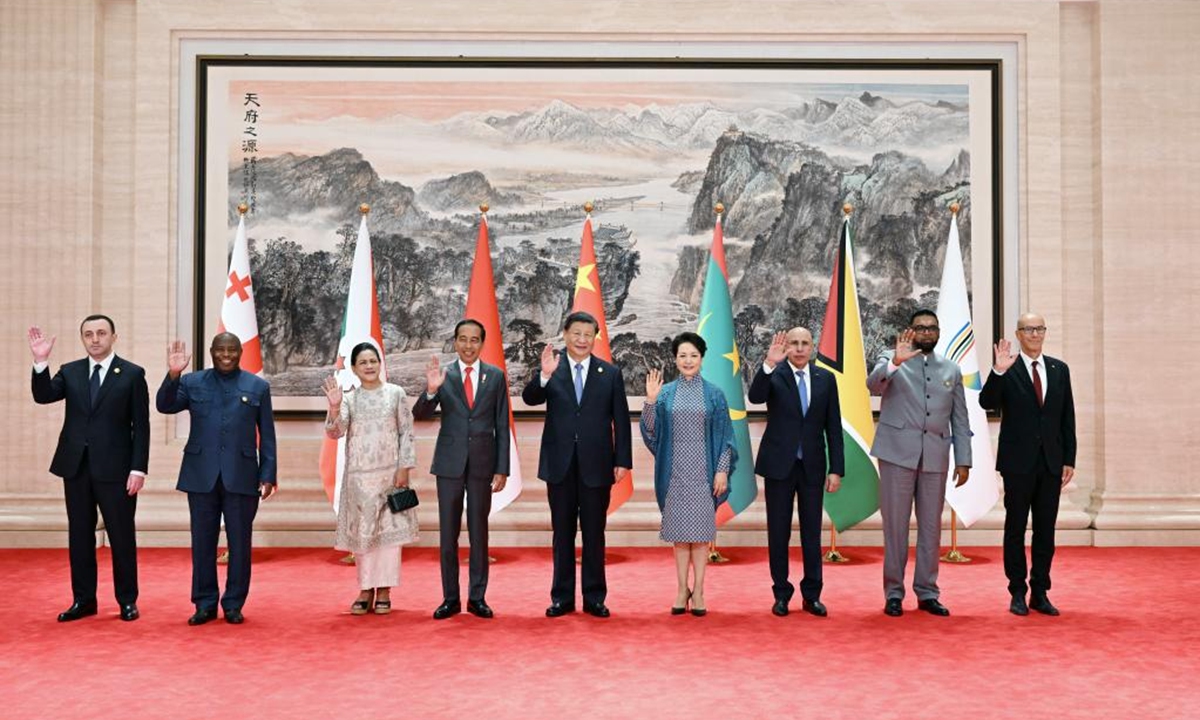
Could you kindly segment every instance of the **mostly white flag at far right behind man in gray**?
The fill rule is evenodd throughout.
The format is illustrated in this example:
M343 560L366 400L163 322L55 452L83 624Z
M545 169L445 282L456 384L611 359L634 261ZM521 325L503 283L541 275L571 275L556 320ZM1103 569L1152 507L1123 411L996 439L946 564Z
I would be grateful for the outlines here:
M941 340L934 349L938 355L959 364L962 371L962 390L967 397L967 414L971 418L971 479L962 487L953 482L954 463L950 463L950 482L946 484L946 502L971 527L991 510L1000 499L1000 482L996 481L991 456L991 439L988 433L988 413L979 404L979 360L976 356L974 326L971 322L971 304L967 300L967 280L962 268L962 250L959 247L958 214L950 218L950 236L946 245L946 263L942 265L942 289L937 296L937 322L942 326Z

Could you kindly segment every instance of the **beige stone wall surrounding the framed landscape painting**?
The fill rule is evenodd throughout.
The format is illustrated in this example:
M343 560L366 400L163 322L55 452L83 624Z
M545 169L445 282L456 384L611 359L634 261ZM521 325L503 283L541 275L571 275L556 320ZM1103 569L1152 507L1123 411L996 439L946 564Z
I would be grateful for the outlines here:
M1019 48L1019 306L1045 314L1048 352L1068 360L1079 410L1079 475L1060 527L1068 542L1200 540L1192 416L1200 380L1192 328L1200 289L1192 203L1200 190L1200 80L1187 0L686 2L565 0L440 4L364 0L10 0L0 4L0 202L7 312L0 334L4 473L0 545L61 545L59 481L46 468L61 407L29 397L25 328L79 356L80 317L118 319L118 352L155 382L181 329L178 94L188 38L478 41L1015 42ZM184 245L185 252L186 245ZM184 258L187 259L186 257ZM1006 329L1010 332L1010 329ZM154 416L143 544L186 541L174 420ZM522 431L527 492L496 523L499 542L545 544L534 478L536 422ZM757 434L757 427L754 434ZM328 541L316 480L318 427L281 427L284 493L264 509L268 542ZM436 426L422 425L427 467ZM612 542L656 542L650 458L642 490L612 518ZM425 493L432 526L432 490ZM994 511L967 542L997 542ZM762 505L722 532L761 544ZM436 534L426 533L427 541ZM877 524L844 539L877 544Z

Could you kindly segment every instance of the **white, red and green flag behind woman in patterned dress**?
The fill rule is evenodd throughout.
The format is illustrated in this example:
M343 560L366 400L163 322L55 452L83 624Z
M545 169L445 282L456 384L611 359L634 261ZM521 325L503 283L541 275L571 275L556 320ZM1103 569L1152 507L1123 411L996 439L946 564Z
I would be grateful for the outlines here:
M350 287L346 292L346 316L342 319L342 337L337 343L337 362L334 377L342 390L358 388L361 383L350 371L350 350L360 342L370 342L379 349L383 359L383 329L379 324L379 299L374 289L374 263L371 259L371 233L367 232L367 211L364 205L359 236L354 242L354 260L350 265ZM379 379L388 382L386 362L380 364ZM320 445L320 480L325 494L337 511L342 490L342 472L346 467L346 437L325 438Z

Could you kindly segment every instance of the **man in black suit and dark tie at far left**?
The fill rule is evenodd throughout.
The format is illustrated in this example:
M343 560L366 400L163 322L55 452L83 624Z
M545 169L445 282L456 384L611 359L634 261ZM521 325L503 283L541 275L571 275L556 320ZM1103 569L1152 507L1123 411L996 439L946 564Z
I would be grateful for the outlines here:
M138 619L138 548L133 516L150 457L146 373L113 353L116 328L92 314L79 325L88 358L50 377L54 337L29 329L34 353L34 401L66 401L62 432L50 472L62 478L74 601L59 622L96 614L96 508L113 547L113 589L122 620Z

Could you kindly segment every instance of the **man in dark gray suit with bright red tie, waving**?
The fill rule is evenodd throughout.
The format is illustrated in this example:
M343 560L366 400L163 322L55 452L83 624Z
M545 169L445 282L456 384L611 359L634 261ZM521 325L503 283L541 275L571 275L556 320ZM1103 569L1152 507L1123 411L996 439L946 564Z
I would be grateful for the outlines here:
M433 618L462 612L458 594L458 533L463 496L470 541L467 611L491 618L487 592L487 515L492 493L504 490L509 475L509 386L504 372L479 359L486 330L479 320L455 325L458 359L442 367L437 356L425 370L426 389L413 406L413 416L428 420L442 406L442 430L433 450L431 473L438 478L438 528L442 545L442 605Z

